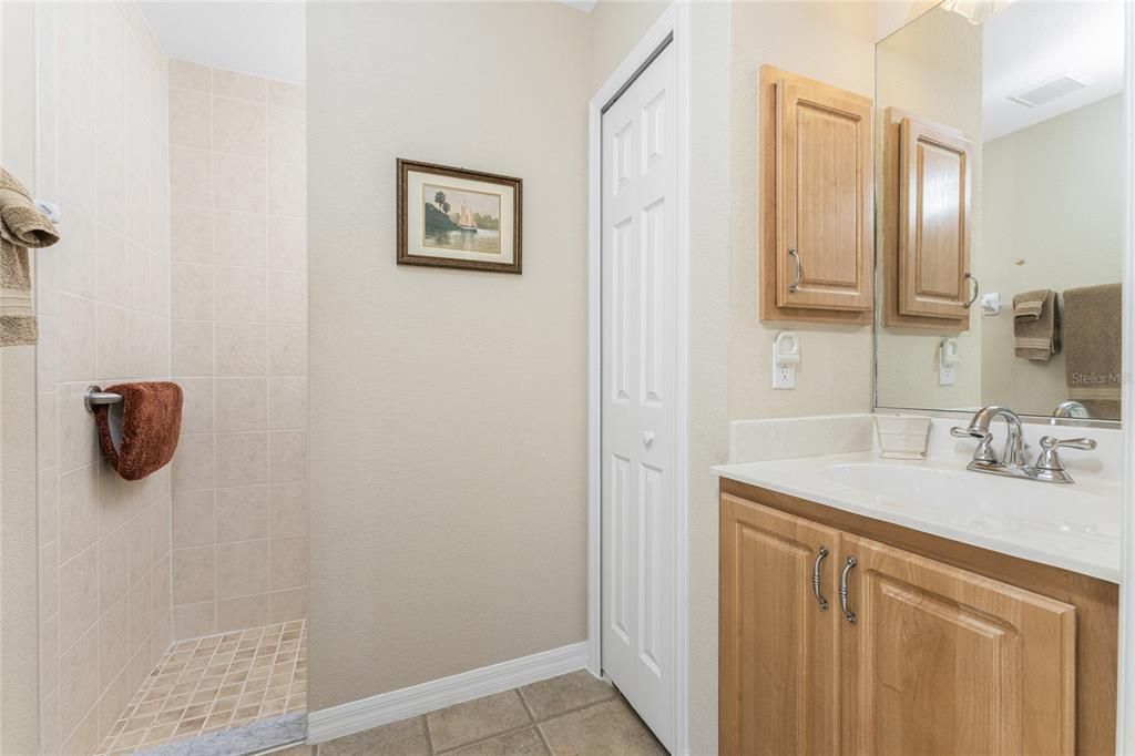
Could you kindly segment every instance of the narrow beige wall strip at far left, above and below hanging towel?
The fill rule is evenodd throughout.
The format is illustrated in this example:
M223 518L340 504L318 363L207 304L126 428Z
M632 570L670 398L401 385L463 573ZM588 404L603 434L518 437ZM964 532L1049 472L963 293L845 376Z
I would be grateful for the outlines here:
M35 186L35 14L0 3L0 165ZM35 252L32 253L33 260ZM39 740L35 347L0 348L0 753Z

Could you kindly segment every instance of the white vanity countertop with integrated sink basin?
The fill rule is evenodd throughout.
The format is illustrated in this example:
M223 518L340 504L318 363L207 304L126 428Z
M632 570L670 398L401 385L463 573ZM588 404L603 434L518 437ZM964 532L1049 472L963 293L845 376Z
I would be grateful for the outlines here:
M1070 455L1069 455L1070 456ZM737 462L714 472L874 520L1110 582L1120 574L1120 487L970 472L957 456L886 460L875 451Z

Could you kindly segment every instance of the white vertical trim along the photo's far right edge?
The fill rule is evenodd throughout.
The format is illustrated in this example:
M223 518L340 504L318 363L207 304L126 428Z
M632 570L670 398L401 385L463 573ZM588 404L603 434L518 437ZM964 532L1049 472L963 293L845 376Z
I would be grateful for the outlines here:
M1116 753L1135 754L1135 7L1124 17L1124 507L1119 585L1119 711Z

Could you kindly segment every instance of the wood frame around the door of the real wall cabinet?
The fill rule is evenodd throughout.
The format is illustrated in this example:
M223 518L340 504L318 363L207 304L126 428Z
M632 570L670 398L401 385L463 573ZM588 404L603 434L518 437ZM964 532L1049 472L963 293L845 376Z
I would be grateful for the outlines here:
M860 196L861 200L856 208L859 224L859 249L860 259L859 282L863 287L863 297L866 304L863 309L821 309L818 306L791 306L779 304L779 282L784 276L784 250L782 242L782 199L780 196L780 182L777 176L783 168L782 156L779 145L777 127L777 86L781 84L807 87L810 90L822 90L830 93L831 98L854 103L860 109L866 109L864 120L864 144L860 171ZM760 319L762 320L793 320L801 322L826 322L848 326L867 326L872 324L874 316L874 264L875 264L875 224L874 224L874 140L873 120L874 117L872 101L867 98L839 90L831 85L814 79L797 76L781 70L773 66L762 66L760 68L760 192L759 192L759 215L760 215Z

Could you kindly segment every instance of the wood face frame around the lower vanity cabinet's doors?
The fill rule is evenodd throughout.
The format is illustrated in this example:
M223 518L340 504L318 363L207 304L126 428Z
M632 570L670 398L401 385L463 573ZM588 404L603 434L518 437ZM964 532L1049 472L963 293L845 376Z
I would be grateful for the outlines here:
M1119 586L724 478L721 480L721 493L804 518L843 534L869 538L878 544L900 548L1074 606L1076 608L1075 753L1082 755L1115 753ZM832 591L831 583L825 586ZM835 606L832 608L838 611ZM723 639L729 631L724 621L723 614L721 628ZM726 662L724 656L722 654L720 660L722 684L729 680L724 669ZM725 700L724 697L728 695L729 691L723 689L722 700ZM851 744L844 742L843 746L851 747ZM854 753L854 748L849 753Z

